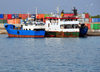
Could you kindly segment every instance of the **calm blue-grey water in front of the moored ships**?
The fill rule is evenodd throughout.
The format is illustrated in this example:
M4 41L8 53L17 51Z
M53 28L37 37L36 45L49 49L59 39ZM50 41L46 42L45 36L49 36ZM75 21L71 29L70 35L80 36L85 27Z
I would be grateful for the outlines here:
M100 72L100 37L0 35L0 72Z

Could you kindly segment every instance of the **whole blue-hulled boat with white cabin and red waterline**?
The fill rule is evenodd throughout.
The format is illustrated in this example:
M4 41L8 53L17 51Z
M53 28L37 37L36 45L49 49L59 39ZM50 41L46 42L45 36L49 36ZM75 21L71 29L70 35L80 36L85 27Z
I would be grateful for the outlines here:
M8 32L8 37L17 38L44 37L45 29L43 26L44 23L40 21L29 21L28 23L22 24L21 27L16 27L13 24L4 24Z

